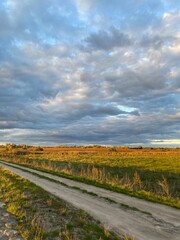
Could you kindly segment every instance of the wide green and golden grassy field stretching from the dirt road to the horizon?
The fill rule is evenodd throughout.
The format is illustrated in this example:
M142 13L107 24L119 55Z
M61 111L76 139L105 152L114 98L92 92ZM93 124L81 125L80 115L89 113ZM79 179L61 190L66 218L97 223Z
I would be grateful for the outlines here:
M180 208L179 148L9 145L0 158Z

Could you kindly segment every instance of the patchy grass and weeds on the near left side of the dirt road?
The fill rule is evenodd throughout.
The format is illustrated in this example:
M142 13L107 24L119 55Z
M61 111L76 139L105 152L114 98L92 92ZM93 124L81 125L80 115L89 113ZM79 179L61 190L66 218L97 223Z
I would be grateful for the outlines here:
M17 217L16 228L25 240L122 239L84 211L3 168L0 185L0 199Z

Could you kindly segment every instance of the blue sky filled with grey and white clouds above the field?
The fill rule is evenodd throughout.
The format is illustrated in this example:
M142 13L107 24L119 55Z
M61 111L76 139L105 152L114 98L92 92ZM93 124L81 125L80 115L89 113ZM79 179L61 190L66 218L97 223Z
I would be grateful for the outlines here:
M1 0L0 143L180 146L179 0Z

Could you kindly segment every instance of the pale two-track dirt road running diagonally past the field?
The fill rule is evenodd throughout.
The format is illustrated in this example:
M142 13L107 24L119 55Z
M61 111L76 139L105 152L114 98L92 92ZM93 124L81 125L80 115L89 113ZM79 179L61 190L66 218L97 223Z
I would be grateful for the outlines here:
M5 164L0 161L0 166L35 183L75 207L85 210L120 235L130 235L137 240L180 239L180 210L178 209L146 202L29 168L18 166L17 169L14 168L17 166L15 164ZM89 194L82 190L88 191Z

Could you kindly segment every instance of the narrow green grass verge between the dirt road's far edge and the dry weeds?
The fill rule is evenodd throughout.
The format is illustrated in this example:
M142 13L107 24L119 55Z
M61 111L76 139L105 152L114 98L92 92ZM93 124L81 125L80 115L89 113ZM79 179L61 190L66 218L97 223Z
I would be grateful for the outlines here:
M8 161L4 161L4 160L2 160L2 161L8 163ZM34 170L40 170L42 172L50 173L50 174L53 174L53 175L56 175L56 176L59 176L59 177L64 177L64 178L67 178L67 179L71 179L71 180L75 180L75 181L78 181L78 182L86 183L86 184L89 184L89 185L104 188L104 189L111 190L111 191L114 191L114 192L123 193L123 194L129 195L129 196L137 197L137 198L144 199L144 200L147 200L147 201L156 202L156 203L160 203L160 204L164 204L164 205L168 205L168 206L180 209L180 200L179 199L165 197L165 196L159 196L159 195L157 196L157 195L153 194L152 192L147 192L147 191L144 191L144 190L131 191L130 189L124 188L122 186L113 186L113 185L108 184L108 183L99 182L99 181L95 181L95 180L91 180L91 179L87 179L87 178L83 178L83 177L77 177L77 176L73 176L73 175L70 175L70 174L67 174L67 173L55 172L53 170L48 170L48 169L44 169L44 168L41 168L41 167L34 167L32 165L19 164L19 163L16 163L16 165L23 166L23 167L28 167L28 168L31 168L31 169L34 169Z

